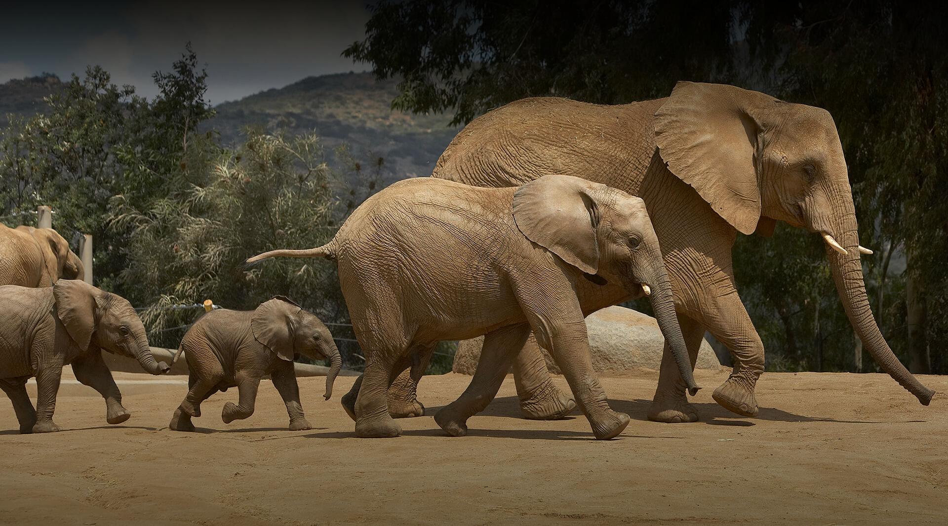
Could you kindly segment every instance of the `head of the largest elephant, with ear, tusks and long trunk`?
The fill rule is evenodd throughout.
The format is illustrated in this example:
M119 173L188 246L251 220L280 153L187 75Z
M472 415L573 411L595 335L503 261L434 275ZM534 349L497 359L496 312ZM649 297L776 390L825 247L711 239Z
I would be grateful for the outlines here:
M885 342L869 308L855 206L832 116L734 86L679 82L655 114L668 169L743 234L775 220L827 243L843 307L864 348L928 405L934 391L913 377Z

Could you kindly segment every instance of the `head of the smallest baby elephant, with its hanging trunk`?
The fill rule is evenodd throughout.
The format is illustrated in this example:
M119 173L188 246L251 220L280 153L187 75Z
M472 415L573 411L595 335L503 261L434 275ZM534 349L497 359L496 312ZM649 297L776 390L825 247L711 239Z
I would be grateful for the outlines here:
M314 359L330 360L326 375L325 399L333 395L333 382L342 370L342 357L326 325L313 313L303 310L283 296L275 296L257 307L250 319L254 339L280 359L293 361L299 353Z

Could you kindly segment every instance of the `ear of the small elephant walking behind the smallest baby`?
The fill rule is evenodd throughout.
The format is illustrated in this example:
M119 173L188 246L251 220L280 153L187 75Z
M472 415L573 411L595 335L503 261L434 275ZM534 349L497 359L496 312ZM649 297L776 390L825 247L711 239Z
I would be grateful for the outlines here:
M92 333L107 307L108 293L77 279L61 279L53 285L56 317L81 349L88 349Z

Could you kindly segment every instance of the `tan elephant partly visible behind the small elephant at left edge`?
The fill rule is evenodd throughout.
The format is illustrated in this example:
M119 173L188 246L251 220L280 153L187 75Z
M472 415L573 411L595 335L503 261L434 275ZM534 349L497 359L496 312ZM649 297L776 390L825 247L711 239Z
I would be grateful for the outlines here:
M0 285L49 287L58 279L82 279L79 256L51 228L0 224Z

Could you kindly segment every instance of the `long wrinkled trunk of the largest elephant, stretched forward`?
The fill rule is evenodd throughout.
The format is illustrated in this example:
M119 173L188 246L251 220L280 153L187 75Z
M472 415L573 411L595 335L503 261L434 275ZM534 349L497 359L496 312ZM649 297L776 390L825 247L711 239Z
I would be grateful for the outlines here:
M915 394L922 405L927 406L935 392L922 385L918 378L905 369L885 342L879 325L872 316L866 295L866 283L863 280L863 265L860 262L855 206L851 197L843 198L841 201L843 214L840 217L843 219L834 221L836 232L830 234L838 236L837 241L843 245L848 254L840 254L829 246L826 250L827 257L830 259L833 281L836 283L836 290L840 301L843 302L849 323L852 324L859 339L863 341L863 348L872 356L872 359L909 393Z

